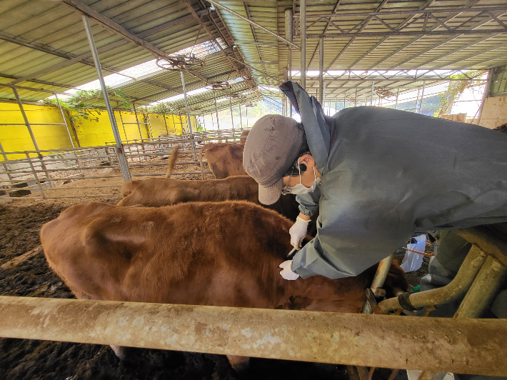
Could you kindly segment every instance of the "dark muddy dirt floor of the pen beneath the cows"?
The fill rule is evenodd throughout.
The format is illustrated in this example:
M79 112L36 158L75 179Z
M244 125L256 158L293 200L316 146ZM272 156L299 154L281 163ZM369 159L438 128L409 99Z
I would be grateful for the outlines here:
M195 166L177 166L176 171L198 171ZM134 169L133 174L160 173L165 167ZM113 173L119 174L116 169ZM174 178L181 178L175 176ZM199 176L184 176L200 179ZM149 177L142 177L143 179ZM55 219L71 204L104 201L116 204L121 196L121 178L81 179L63 187L114 185L96 189L75 189L89 198L58 200L16 200L0 202L0 266L39 246L42 224ZM54 191L58 194L58 191ZM69 194L69 191L65 191ZM412 281L411 281L412 284ZM36 254L19 265L0 269L1 296L74 298L49 269L44 254ZM0 321L1 324L1 321ZM376 371L373 379L387 379L390 371ZM0 339L0 379L346 379L344 366L318 365L297 361L251 359L244 374L236 374L225 356L154 349L129 349L118 359L109 346L56 341Z

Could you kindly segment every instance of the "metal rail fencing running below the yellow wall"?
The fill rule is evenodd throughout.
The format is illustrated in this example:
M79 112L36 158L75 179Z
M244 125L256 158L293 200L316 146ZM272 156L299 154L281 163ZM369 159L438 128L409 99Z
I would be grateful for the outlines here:
M239 142L246 139L242 131L222 130L209 131L181 136L160 136L158 139L134 139L121 141L121 148L128 163L129 171L144 168L159 168L154 173L135 172L132 178L146 176L164 176L167 161L175 146L178 146L179 159L176 165L199 165L199 150L208 143ZM192 149L195 146L195 149ZM189 155L192 155L189 159ZM14 159L12 156L23 155ZM120 179L121 174L114 174L120 169L119 154L116 143L107 142L104 146L87 148L65 148L33 151L2 151L4 161L0 166L0 196L11 196L13 199L63 199L90 198L94 196L117 197L118 195L101 194L101 190L121 187L121 184L96 184L89 186L62 186L79 179ZM206 161L204 161L206 163ZM176 172L174 175L211 174L211 171L189 170ZM96 194L73 195L76 189L96 189ZM53 196L54 191L64 195Z

